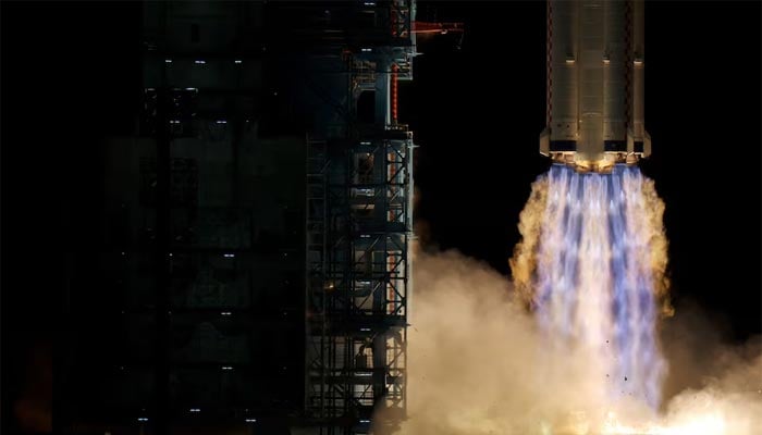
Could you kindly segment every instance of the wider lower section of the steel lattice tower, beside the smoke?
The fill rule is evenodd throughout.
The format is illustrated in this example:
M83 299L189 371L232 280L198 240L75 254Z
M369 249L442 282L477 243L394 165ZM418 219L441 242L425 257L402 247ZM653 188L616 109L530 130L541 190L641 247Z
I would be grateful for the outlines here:
M405 412L413 139L384 133L339 158L308 141L307 409L328 434Z

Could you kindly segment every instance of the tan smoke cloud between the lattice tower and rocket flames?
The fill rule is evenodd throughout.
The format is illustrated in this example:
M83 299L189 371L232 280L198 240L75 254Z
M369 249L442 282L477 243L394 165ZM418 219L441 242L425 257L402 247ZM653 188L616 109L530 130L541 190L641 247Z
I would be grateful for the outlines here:
M543 346L505 277L457 252L415 261L409 419L401 433L541 433L569 411L605 403L585 381L605 373L582 349Z

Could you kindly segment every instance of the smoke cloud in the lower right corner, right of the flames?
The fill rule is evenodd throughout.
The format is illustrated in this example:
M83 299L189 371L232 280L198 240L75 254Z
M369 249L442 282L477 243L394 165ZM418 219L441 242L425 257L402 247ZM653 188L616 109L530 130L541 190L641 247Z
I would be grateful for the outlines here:
M665 321L662 340L671 370L664 393L667 425L702 422L702 434L762 433L762 337L724 344L724 321L684 302ZM708 427L716 427L710 432ZM703 432L701 432L703 431ZM689 433L686 431L686 433Z

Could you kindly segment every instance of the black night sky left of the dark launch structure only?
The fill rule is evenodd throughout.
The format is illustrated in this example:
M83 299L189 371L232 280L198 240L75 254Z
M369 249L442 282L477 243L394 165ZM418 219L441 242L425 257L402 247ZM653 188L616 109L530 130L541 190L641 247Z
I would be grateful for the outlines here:
M49 406L66 264L78 257L84 274L98 261L99 146L131 130L139 104L139 7L0 4L3 433L17 431L9 399Z

